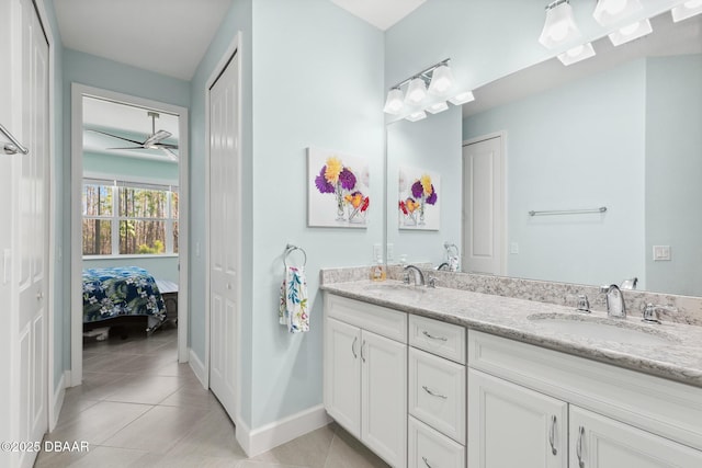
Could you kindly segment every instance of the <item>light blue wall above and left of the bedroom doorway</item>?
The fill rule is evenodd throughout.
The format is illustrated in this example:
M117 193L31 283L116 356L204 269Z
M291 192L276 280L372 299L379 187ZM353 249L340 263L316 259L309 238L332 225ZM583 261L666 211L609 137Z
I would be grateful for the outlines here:
M58 31L58 28L56 30ZM190 105L190 87L186 81L167 77L139 68L129 67L124 64L83 54L72 49L64 49L63 54L63 89L57 89L57 93L63 96L60 103L63 122L63 167L57 168L63 172L60 183L61 199L60 217L66 220L63 224L63 258L61 267L63 279L60 289L63 290L63 306L57 308L57 316L63 313L63 368L70 368L70 125L71 125L71 83L77 82L104 90L116 91L138 98L160 101L168 104L188 107ZM60 92L59 92L60 91ZM58 288L58 286L57 286ZM58 317L57 317L58 320ZM59 340L57 340L59 341Z

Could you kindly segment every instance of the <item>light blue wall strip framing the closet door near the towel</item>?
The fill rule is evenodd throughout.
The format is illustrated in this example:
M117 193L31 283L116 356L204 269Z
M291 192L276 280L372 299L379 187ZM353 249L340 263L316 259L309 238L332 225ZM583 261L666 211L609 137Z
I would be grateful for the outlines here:
M205 93L210 76L223 58L229 44L236 34L241 32L241 194L242 204L241 219L241 270L251 272L253 265L253 250L251 244L253 204L253 140L252 134L252 0L234 0L231 8L222 21L210 47L191 81L190 93L192 96L190 109L190 203L191 203L191 231L190 231L190 336L189 345L193 353L205 362L205 274L206 259L205 248L207 242L207 231L205 229ZM246 202L248 201L248 203ZM253 308L253 297L251 294L253 276L242 274L241 277L241 343L239 351L242 356L248 356L241 361L241 413L245 421L251 421L251 379L253 342L251 333L251 310Z

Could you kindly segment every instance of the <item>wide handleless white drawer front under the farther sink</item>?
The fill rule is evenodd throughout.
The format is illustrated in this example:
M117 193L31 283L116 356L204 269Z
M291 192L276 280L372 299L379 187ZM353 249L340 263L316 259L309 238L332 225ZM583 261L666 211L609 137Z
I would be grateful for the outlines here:
M325 313L342 322L407 343L407 313L387 307L327 294Z

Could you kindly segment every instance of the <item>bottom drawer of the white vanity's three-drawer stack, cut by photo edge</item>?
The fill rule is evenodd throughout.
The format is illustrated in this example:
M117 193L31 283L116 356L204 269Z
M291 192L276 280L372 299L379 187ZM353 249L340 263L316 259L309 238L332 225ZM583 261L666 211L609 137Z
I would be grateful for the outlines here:
M409 468L464 468L465 447L409 416L407 466Z

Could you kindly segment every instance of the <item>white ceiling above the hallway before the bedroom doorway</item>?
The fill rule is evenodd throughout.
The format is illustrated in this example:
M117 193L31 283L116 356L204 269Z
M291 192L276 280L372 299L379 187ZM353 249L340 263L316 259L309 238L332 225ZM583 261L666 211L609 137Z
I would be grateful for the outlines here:
M55 0L65 47L190 81L231 0Z

